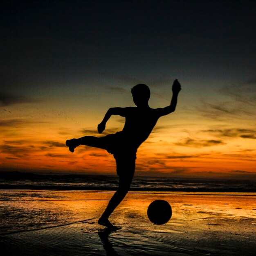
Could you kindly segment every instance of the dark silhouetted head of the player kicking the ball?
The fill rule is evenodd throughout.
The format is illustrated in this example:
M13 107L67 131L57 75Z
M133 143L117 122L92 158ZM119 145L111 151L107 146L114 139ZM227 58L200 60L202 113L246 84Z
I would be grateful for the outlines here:
M132 88L131 93L136 106L148 105L150 90L147 85L139 83Z

